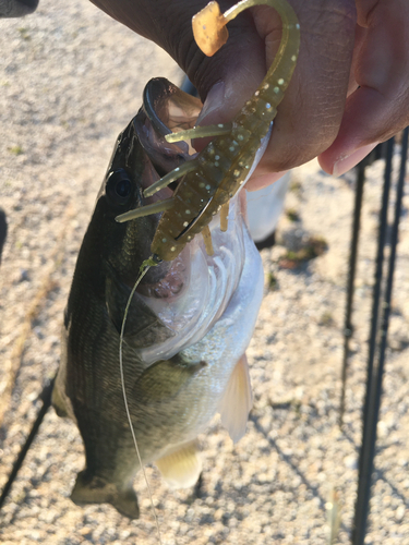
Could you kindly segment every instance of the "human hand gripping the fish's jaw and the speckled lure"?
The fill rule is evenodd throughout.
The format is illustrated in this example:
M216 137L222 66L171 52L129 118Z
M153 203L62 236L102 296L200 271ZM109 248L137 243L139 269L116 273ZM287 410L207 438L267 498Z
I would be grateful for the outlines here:
M279 45L281 22L267 7L229 23L227 44L206 58L191 29L206 0L92 1L173 57L205 99L202 125L232 119ZM232 3L222 0L220 8ZM252 190L316 156L324 170L339 175L409 123L407 0L290 3L301 26L300 55L267 150L246 185Z

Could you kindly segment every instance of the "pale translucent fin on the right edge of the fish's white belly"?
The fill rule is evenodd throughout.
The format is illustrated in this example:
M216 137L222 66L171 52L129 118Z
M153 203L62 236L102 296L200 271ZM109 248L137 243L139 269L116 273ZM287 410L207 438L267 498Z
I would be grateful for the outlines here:
M249 364L245 353L237 362L231 373L218 412L221 424L229 432L233 443L245 434L249 412L253 404L253 395L249 375Z

